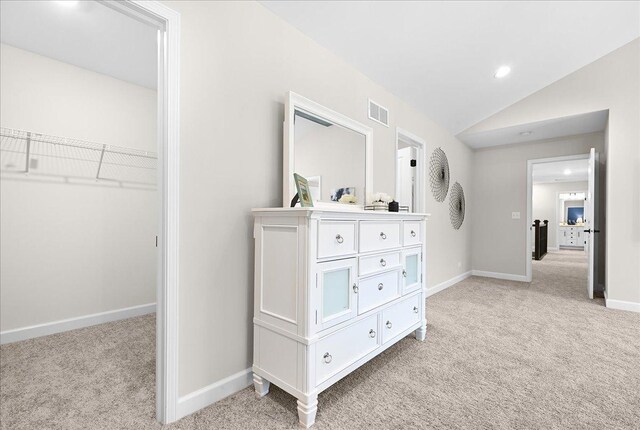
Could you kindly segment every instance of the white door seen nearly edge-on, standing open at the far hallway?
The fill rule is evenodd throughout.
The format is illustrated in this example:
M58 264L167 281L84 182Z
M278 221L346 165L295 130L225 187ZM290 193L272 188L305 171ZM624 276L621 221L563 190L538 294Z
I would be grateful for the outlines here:
M598 260L596 259L597 253L597 241L599 230L598 226L598 211L596 207L598 205L597 194L597 178L598 178L598 154L594 148L591 148L589 153L589 189L587 191L587 197L585 199L585 228L584 238L585 245L587 247L587 253L589 254L589 273L587 277L587 292L589 298L593 299L593 292L595 285L598 282L597 269Z

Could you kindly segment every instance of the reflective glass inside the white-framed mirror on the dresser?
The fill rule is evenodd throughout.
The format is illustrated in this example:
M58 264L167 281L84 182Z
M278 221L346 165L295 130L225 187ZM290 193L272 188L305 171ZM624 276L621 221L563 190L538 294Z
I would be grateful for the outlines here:
M364 204L365 136L297 109L294 120L294 171L309 181L314 203L348 194Z

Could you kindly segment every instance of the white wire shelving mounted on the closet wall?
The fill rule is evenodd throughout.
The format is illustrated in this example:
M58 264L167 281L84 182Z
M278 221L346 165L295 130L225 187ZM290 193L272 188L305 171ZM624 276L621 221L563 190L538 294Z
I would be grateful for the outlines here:
M155 187L157 163L151 151L0 128L3 174Z

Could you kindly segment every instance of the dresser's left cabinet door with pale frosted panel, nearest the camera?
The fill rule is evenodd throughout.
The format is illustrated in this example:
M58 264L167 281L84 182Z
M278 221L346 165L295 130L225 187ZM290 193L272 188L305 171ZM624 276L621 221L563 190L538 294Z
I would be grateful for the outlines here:
M316 268L316 326L324 330L357 315L357 260L319 263Z

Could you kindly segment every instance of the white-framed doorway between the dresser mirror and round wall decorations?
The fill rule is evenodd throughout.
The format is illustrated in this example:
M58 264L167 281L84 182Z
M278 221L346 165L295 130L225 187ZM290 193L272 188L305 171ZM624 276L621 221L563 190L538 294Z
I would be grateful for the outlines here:
M396 197L400 209L424 212L424 153L418 136L396 129Z

